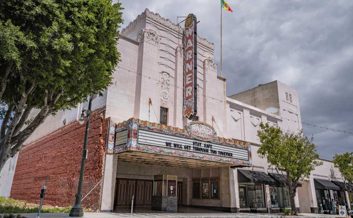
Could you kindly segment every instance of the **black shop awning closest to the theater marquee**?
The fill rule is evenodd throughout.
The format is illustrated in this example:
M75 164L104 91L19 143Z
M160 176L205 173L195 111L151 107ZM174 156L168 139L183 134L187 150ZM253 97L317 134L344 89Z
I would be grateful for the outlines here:
M238 182L262 183L276 185L277 182L264 172L238 169Z

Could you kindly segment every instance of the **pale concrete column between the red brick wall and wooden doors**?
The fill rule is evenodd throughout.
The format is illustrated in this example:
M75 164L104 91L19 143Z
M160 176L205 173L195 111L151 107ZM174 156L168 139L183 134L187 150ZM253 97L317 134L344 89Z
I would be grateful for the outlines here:
M118 155L106 154L101 196L101 212L113 212Z

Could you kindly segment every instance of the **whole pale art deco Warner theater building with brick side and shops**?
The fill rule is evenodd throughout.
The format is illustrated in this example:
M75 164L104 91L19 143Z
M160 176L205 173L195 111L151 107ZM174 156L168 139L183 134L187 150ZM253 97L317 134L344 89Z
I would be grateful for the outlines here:
M256 134L261 122L284 131L302 128L297 90L273 81L229 95L214 44L197 35L206 24L190 16L185 25L146 9L121 31L113 85L92 102L85 178L101 182L97 207L119 210L132 196L135 206L172 212L179 206L227 212L290 207L283 176L257 155ZM82 108L87 104L48 117L26 141L13 198L36 201L47 173L55 186L78 176ZM323 161L300 181L298 211L323 212L328 198L350 204L339 171ZM48 186L47 204L64 204L58 199L75 191L58 196Z

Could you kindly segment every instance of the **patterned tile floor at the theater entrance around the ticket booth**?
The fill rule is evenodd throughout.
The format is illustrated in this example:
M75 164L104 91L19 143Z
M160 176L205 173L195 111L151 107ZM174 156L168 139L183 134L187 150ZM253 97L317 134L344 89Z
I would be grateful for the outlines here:
M114 210L114 213L119 217L129 217L131 208L118 207ZM274 214L272 214L274 215ZM214 210L205 210L193 207L181 207L178 206L178 212L162 212L151 210L151 207L134 207L134 217L253 217L253 216L269 216L268 213L228 213Z

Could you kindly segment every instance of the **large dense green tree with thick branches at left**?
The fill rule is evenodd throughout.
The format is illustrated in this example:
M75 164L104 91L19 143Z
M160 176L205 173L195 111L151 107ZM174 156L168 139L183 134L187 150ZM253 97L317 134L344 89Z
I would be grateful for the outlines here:
M46 117L111 84L122 9L111 0L0 1L0 170Z

